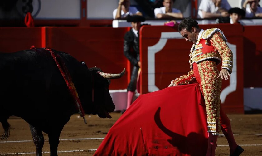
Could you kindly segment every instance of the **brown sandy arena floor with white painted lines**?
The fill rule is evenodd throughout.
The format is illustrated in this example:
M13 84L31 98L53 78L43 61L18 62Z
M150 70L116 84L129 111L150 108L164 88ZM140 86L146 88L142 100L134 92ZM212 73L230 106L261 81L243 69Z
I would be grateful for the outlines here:
M84 124L83 119L75 114L71 116L70 121L65 125L61 135L58 151L65 151L59 153L60 156L70 155L93 155L95 149L99 147L112 125L121 116L120 113L111 113L112 119L101 119L97 115L86 115L88 124ZM235 140L240 144L245 151L243 156L258 156L262 155L262 114L254 115L228 115L231 120ZM29 125L18 117L11 117L8 122L11 124L10 137L8 141L0 142L0 155L35 155L35 145L31 141L32 136L29 130ZM3 129L0 127L0 134ZM221 133L222 134L222 133ZM44 134L45 139L48 139L47 134ZM79 138L96 138L96 139L79 139ZM68 140L73 139L73 140ZM22 142L15 142L18 140L28 140ZM228 145L226 138L220 136L217 141L218 147L216 155L229 155L229 147L221 146ZM71 152L74 151L75 152ZM43 151L49 151L49 143L45 141ZM33 154L28 154L32 152ZM20 154L26 153L26 154ZM43 154L50 155L49 153Z

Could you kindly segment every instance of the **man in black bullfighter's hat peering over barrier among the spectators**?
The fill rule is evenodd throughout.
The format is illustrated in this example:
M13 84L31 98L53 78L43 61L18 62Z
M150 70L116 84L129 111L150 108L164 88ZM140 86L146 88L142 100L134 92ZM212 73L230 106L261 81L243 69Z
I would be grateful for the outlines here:
M239 23L239 20L245 17L245 11L243 9L240 9L238 7L234 7L228 10L228 13L230 14L229 17L220 17L218 18L219 23L230 23L230 24L236 24Z

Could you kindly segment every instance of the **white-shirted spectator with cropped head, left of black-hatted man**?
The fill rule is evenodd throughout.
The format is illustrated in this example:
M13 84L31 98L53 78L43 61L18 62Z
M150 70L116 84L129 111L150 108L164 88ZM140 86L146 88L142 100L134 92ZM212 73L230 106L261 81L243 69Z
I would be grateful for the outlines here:
M228 17L230 5L227 0L201 0L198 8L198 18Z

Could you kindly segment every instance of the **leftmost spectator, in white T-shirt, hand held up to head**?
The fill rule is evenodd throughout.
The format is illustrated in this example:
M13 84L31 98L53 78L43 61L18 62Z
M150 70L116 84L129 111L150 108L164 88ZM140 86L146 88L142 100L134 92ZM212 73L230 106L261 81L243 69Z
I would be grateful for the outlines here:
M126 18L127 15L140 15L142 13L138 11L136 7L130 7L129 0L119 0L118 7L113 11L114 19Z

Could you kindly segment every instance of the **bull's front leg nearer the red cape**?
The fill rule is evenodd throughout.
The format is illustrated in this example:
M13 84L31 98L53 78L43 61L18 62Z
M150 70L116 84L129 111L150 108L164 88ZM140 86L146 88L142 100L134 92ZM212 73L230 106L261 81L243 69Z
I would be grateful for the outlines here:
M59 144L59 136L62 131L62 129L59 131L57 129L58 128L54 128L54 131L48 134L49 144L50 144L50 156L57 156L57 147Z

